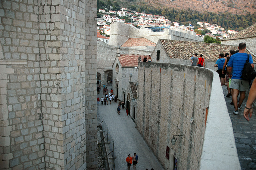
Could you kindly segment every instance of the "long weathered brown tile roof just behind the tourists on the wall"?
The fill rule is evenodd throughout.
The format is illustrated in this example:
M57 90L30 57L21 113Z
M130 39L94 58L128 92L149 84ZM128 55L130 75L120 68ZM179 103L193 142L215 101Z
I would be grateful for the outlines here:
M237 50L237 46L223 45L205 42L189 42L189 41L176 41L168 39L160 39L160 42L164 46L166 53L170 58L190 59L190 55L197 53L203 54L203 58L206 60L216 61L219 59L220 53L229 53L230 50ZM247 54L251 54L245 50ZM161 55L161 54L160 54ZM252 59L256 62L256 57L252 55Z

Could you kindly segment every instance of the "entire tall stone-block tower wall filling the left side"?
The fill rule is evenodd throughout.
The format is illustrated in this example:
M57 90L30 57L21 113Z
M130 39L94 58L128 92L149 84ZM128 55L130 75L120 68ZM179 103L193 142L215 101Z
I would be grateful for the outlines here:
M97 169L96 5L0 2L1 168Z

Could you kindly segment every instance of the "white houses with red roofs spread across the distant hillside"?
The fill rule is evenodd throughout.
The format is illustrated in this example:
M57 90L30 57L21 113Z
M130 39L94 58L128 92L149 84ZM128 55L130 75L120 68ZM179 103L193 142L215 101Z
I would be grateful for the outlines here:
M98 13L101 14L101 18L97 18L97 38L103 40L105 43L109 42L110 35L110 26L109 24L114 22L126 23L128 25L136 26L137 28L151 28L152 31L157 29L169 28L176 31L195 31L195 26L189 23L189 26L180 25L178 22L172 22L166 19L161 15L152 15L145 14L141 12L136 12L132 10L128 10L127 8L121 8L121 11L106 11L105 9L99 9ZM120 17L128 17L130 22L126 22L127 20L119 19ZM217 24L210 24L204 22L197 22L198 30L205 31L208 30L205 35L213 37L214 39L224 39L229 37L232 34L237 33L234 30L225 30L223 27L218 26ZM104 36L105 35L105 36ZM204 38L205 35L196 34L196 36Z

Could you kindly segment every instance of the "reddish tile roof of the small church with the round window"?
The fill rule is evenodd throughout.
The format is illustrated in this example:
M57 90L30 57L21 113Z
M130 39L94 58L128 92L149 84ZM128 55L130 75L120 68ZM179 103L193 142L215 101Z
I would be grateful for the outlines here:
M128 55L128 54L121 54L118 57L118 60L121 64L121 67L137 67L138 66L138 58L141 56L141 60L143 61L144 55ZM148 59L147 55L147 59Z

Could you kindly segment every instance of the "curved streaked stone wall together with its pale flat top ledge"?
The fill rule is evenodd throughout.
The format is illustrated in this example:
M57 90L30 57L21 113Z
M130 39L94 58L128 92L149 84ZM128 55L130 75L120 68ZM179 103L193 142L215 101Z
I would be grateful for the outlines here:
M228 169L240 167L232 124L215 71L141 62L138 84L136 125L165 169L173 169L175 159L179 169L207 169L209 165L222 169L223 164ZM175 145L171 144L173 137ZM163 154L167 147L168 159ZM216 162L220 156L222 164Z

